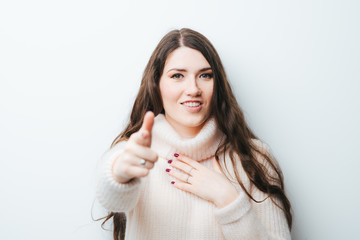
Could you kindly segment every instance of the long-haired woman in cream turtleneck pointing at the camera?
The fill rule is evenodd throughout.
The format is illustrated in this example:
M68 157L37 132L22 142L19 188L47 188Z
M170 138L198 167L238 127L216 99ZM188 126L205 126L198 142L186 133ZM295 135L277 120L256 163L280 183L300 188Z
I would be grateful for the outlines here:
M114 239L290 239L279 166L212 44L173 30L154 50L97 187Z

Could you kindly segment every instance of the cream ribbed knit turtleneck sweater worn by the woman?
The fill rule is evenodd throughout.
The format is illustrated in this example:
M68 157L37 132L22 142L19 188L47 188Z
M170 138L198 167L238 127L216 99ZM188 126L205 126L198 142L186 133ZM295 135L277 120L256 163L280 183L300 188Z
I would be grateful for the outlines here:
M148 176L135 178L125 184L113 179L113 161L125 142L120 142L103 156L97 197L108 211L126 213L125 239L291 239L283 211L270 199L262 203L249 200L236 181L229 158L225 158L229 169L226 176L231 179L239 195L223 208L219 209L213 203L171 184L174 178L165 169L171 168L168 160L173 159L174 153L187 155L212 168L211 158L222 136L214 119L210 119L196 137L183 139L164 115L159 114L155 117L151 145L159 159ZM268 150L259 140L254 141L262 150ZM223 167L223 162L220 165ZM240 161L239 166L241 179L252 196L256 200L265 199L267 195L249 183Z

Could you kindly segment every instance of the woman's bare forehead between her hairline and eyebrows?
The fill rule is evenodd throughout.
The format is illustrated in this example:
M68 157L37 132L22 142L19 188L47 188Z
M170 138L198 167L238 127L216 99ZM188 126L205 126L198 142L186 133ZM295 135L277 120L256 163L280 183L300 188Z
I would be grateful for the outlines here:
M189 47L180 47L169 54L164 71L170 68L197 70L205 67L210 67L210 64L200 51Z

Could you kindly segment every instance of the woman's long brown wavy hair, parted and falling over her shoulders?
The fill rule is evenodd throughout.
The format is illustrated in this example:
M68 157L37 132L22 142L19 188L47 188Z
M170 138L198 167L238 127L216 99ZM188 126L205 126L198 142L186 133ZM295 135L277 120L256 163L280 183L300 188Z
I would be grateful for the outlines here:
M228 152L236 180L241 188L253 201L264 201L265 199L261 201L254 199L245 188L236 170L238 159L240 159L250 182L260 191L268 194L270 199L284 211L291 229L291 205L285 195L282 172L271 154L259 150L258 146L252 141L252 139L258 138L245 122L243 111L240 109L231 90L218 53L206 37L194 30L188 28L173 30L160 40L143 73L140 89L130 114L130 122L125 130L114 139L111 147L120 141L129 139L131 134L140 129L146 111L154 112L155 116L164 113L159 90L160 77L167 56L181 46L200 51L213 71L214 92L211 100L211 115L215 118L217 126L225 134L225 139L215 153L216 160L221 161L220 159L223 159L220 158L221 154L225 157L225 153ZM260 154L262 161L256 158L255 152ZM280 204L274 200L278 200ZM102 225L110 218L113 218L114 239L124 239L125 213L110 212L108 216L101 218L105 219Z

